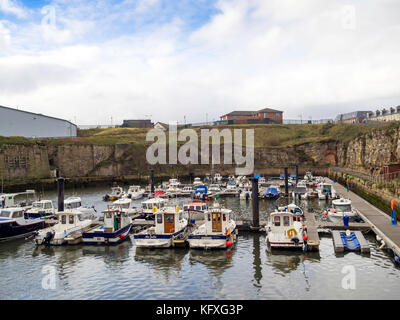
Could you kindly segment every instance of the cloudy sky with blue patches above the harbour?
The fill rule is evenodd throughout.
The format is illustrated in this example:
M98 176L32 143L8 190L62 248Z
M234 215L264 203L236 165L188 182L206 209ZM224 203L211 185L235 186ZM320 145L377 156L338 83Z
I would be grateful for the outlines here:
M82 125L400 105L398 0L0 0L0 105Z

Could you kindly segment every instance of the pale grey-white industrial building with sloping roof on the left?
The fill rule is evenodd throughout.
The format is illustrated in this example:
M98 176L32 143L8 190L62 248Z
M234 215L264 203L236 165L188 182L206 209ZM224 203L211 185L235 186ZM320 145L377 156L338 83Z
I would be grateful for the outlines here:
M67 120L0 106L0 136L76 137L77 126Z

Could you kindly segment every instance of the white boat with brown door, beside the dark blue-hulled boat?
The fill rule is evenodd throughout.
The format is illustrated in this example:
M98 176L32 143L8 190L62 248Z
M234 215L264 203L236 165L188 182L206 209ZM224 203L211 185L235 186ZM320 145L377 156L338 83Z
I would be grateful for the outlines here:
M165 207L155 213L155 226L134 235L138 248L169 248L175 240L184 241L188 220L178 206Z

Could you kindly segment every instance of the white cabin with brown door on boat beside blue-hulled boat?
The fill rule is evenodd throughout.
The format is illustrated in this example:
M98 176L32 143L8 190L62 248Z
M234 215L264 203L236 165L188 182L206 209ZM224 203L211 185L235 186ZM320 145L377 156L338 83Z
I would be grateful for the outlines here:
M183 211L178 206L175 208L163 208L155 213L155 233L169 234L178 232L180 220L183 220Z

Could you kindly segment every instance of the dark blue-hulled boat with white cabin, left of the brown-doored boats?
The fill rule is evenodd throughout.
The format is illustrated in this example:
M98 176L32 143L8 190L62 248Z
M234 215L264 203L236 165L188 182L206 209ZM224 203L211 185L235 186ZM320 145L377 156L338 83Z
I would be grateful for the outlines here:
M84 244L115 245L129 238L132 219L126 209L108 206L104 214L104 224L82 234Z

